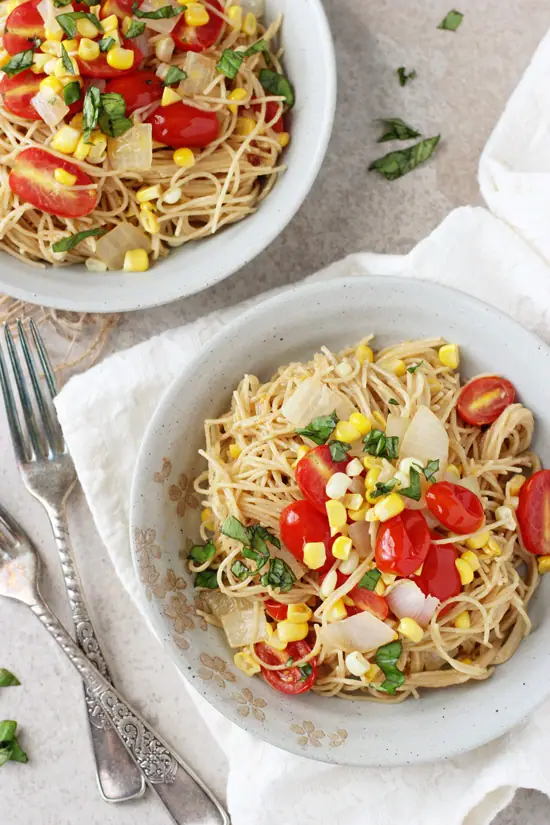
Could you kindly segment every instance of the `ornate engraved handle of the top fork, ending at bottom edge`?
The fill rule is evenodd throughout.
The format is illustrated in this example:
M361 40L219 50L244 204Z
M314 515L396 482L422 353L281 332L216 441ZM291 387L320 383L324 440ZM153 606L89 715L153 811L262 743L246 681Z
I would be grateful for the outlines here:
M73 642L57 616L38 601L33 613L65 651L90 694L101 705L177 825L230 825L229 817L193 770L123 699Z

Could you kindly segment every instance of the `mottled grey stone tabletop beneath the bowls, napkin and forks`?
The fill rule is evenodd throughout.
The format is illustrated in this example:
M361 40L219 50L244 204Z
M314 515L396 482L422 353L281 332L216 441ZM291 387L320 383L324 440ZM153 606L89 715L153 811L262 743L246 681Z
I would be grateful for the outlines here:
M169 307L125 316L112 349L295 282L350 252L407 251L452 208L480 202L479 153L550 25L548 4L460 0L465 19L456 34L436 29L450 0L326 0L326 7L336 41L339 102L326 163L300 213L262 256L226 282ZM405 88L395 77L400 65L418 73ZM299 78L294 80L299 93ZM394 183L366 171L387 151L375 143L373 120L388 115L402 117L425 135L442 135L435 158ZM68 623L49 528L20 484L3 417L0 455L5 457L0 500L41 537L44 592ZM115 579L82 496L75 497L71 523L82 577L120 688L222 796L223 758L189 707L179 675ZM22 688L2 692L0 718L20 721L22 743L31 756L29 765L11 764L1 771L0 823L167 825L150 794L117 808L101 802L78 678L23 607L3 603L0 623L0 664L24 682ZM549 821L548 800L521 791L496 825Z

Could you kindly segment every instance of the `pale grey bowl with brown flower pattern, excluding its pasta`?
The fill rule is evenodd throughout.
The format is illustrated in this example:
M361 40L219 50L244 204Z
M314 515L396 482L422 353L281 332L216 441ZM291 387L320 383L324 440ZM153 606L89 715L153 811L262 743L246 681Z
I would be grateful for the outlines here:
M433 284L389 277L330 281L297 287L250 310L174 382L140 450L131 529L155 631L182 674L221 713L295 753L340 764L403 765L494 739L550 693L550 577L530 607L533 632L490 679L381 706L314 693L287 697L243 675L222 632L201 627L194 615L196 594L179 556L197 537L188 479L204 469L197 460L204 418L227 409L244 373L267 380L277 366L307 359L322 344L338 350L371 332L377 347L441 335L460 345L465 378L489 370L507 376L535 414L534 446L550 466L550 349L539 339L491 307Z

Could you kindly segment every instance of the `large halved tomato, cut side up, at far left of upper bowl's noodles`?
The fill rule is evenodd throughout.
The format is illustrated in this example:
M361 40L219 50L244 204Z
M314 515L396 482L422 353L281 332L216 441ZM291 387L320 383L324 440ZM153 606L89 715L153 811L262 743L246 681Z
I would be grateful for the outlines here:
M10 189L22 201L42 212L62 218L82 218L97 203L95 189L62 188L54 178L56 169L65 169L76 177L76 186L91 184L91 178L68 160L51 155L45 149L24 149L17 156L8 179Z

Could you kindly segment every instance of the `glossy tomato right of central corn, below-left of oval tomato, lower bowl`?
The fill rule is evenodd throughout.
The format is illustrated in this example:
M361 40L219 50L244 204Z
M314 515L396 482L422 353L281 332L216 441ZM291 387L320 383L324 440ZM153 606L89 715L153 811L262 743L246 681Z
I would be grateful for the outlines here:
M403 510L383 522L376 537L376 566L382 573L410 576L430 549L428 523L419 510Z

